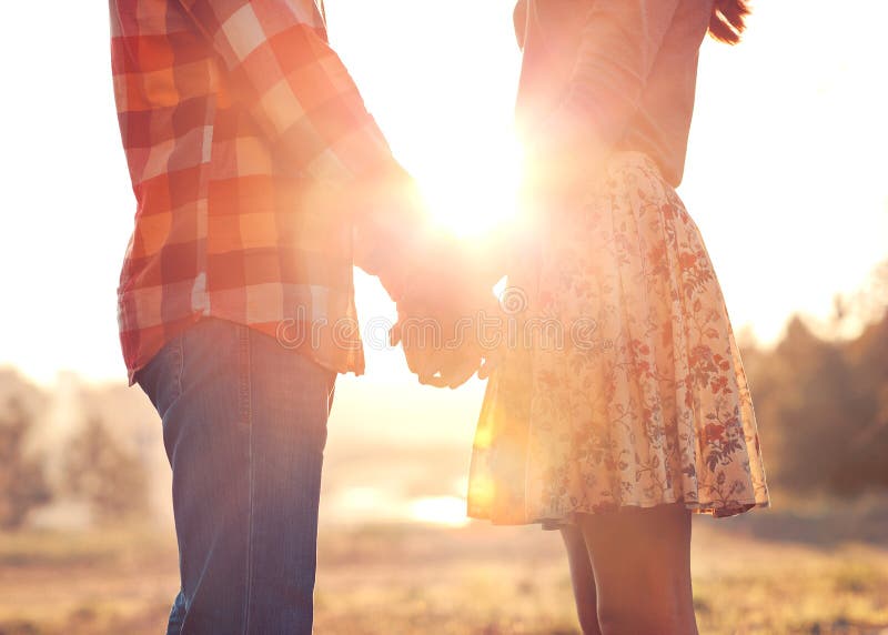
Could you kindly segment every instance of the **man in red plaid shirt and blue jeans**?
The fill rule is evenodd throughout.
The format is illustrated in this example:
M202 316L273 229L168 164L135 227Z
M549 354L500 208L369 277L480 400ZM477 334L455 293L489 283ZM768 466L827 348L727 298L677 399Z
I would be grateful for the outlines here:
M435 271L444 248L327 44L320 2L110 8L138 201L120 336L173 473L168 633L310 633L334 380L363 370L352 265L380 276L402 318L453 324L460 283ZM438 384L480 362L406 352Z

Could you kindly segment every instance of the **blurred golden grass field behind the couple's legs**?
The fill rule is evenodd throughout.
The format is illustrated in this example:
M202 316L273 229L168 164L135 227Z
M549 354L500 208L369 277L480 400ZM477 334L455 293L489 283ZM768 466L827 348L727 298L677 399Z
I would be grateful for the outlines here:
M888 633L876 521L696 518L700 632ZM0 634L162 633L175 564L165 532L1 535ZM577 633L558 536L533 527L327 526L320 566L320 634Z

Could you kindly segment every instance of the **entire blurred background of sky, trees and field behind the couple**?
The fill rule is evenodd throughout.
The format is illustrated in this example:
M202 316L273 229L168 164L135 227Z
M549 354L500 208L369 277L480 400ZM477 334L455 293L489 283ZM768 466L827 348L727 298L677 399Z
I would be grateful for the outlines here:
M888 632L888 4L758 0L703 47L679 193L749 375L774 508L695 518L703 633ZM125 386L132 229L107 7L9 3L0 38L0 634L160 633L176 587L157 414ZM327 0L334 47L440 224L507 222L508 0ZM363 322L394 318L356 273ZM482 382L369 342L330 421L319 633L577 633L556 534L464 514Z

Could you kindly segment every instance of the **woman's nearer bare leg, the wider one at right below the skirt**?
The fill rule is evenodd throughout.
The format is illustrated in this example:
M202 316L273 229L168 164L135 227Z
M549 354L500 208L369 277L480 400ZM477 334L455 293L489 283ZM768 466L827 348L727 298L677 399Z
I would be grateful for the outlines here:
M583 515L603 635L697 635L690 512L683 504Z

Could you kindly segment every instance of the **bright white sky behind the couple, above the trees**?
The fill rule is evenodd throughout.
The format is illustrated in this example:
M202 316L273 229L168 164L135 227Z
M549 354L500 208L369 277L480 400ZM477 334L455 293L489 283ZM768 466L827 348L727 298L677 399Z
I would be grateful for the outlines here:
M331 37L403 163L457 230L507 213L518 70L509 0L327 0ZM888 3L759 0L744 44L705 44L679 193L736 326L776 337L888 256ZM10 2L0 364L123 379L114 292L134 201L103 2ZM502 188L481 188L484 182ZM359 278L364 320L391 314ZM393 352L376 381L406 381Z

